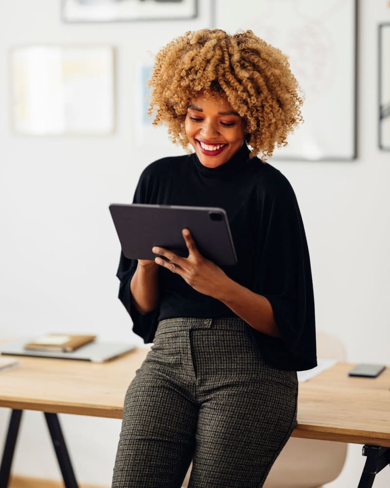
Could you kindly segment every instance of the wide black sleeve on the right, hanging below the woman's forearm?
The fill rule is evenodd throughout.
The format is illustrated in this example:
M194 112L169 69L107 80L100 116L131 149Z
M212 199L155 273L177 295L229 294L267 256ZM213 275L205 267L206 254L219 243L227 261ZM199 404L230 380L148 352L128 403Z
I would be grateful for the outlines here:
M316 365L312 271L301 213L287 180L263 201L259 224L253 291L271 303L280 339L255 333L256 342L266 355L284 351L297 369L309 369ZM273 347L277 341L282 347ZM283 358L273 359L280 363Z

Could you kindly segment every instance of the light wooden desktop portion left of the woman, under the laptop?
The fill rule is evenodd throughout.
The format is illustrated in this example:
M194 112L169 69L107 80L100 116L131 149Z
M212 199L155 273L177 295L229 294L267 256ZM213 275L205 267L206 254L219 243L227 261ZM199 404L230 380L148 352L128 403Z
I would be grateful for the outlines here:
M127 387L148 351L106 363L9 356L20 365L0 371L0 407L121 419Z

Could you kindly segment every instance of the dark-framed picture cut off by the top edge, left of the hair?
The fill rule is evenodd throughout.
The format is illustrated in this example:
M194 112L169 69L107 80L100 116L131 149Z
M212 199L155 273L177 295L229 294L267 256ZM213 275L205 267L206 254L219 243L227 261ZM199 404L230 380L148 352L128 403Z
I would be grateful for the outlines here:
M65 22L185 20L198 15L198 0L62 0Z

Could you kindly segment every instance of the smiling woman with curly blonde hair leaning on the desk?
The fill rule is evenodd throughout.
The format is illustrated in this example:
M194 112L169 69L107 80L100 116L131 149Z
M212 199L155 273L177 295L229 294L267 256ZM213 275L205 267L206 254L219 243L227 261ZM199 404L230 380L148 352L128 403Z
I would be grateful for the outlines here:
M123 255L119 298L152 350L129 386L113 487L261 487L296 426L296 370L316 365L309 253L271 156L301 119L286 57L254 36L188 32L156 56L154 123L195 153L142 173L134 202L226 210L238 263ZM248 148L250 144L251 150Z

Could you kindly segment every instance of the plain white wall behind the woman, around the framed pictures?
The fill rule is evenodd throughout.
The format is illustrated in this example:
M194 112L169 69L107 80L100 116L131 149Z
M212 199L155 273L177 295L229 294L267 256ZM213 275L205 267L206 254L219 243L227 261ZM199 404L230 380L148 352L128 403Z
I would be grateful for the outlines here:
M135 65L174 36L210 26L210 4L200 0L200 17L186 22L65 24L59 3L0 3L1 336L73 329L96 331L104 340L137 340L117 300L119 246L107 207L132 199L146 164L181 150L168 143L137 144ZM300 203L317 326L344 341L351 362L389 363L390 154L377 148L376 54L377 24L390 21L386 3L360 1L358 159L271 162L289 178ZM114 135L12 134L7 53L12 46L33 43L117 48ZM0 409L0 439L8 418L9 410ZM120 421L71 415L60 415L60 421L78 480L110 485ZM350 448L342 475L329 487L357 486L364 463L360 449ZM40 412L24 414L13 471L60 477ZM385 471L375 488L384 488L385 478L388 484Z

